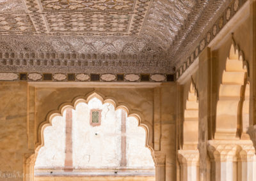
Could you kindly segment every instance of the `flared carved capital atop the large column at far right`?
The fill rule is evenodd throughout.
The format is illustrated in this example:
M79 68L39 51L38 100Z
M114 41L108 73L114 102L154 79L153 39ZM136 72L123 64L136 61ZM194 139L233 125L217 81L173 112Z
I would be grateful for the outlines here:
M251 140L209 140L207 150L212 161L252 161L255 148Z

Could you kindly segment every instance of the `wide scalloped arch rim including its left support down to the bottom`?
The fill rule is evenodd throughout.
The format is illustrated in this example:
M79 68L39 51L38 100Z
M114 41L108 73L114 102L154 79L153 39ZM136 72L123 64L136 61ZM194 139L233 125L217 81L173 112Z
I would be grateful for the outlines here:
M122 109L127 113L127 117L134 117L136 120L138 120L138 126L143 127L143 129L145 129L145 133L146 133L145 146L150 150L154 161L156 161L156 158L154 157L154 150L152 147L150 147L150 145L148 145L149 137L152 136L152 133L150 132L152 131L152 127L150 125L147 125L147 122L145 124L142 123L143 115L140 112L131 110L131 108L129 108L129 106L125 105L124 103L121 103L121 104L116 103L115 99L113 98L104 99L104 96L101 96L97 92L92 92L85 97L75 98L74 101L72 101L71 103L64 103L60 106L58 110L48 113L47 119L44 122L42 122L42 124L40 124L40 126L38 127L38 143L36 143L35 154L30 154L26 159L24 180L29 180L29 181L33 180L33 175L34 175L33 168L35 166L36 157L38 156L38 151L40 150L40 148L44 146L45 127L51 126L52 125L51 120L56 116L63 115L63 112L68 108L74 109L76 108L76 105L78 103L88 103L88 101L90 101L93 98L99 99L102 102L102 104L110 103L111 105L114 106L115 110Z

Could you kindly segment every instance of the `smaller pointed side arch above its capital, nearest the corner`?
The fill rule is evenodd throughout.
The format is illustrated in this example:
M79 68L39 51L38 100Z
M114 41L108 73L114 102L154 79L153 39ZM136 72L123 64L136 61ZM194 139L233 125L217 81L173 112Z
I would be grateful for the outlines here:
M183 124L183 149L196 150L198 144L198 92L191 80Z

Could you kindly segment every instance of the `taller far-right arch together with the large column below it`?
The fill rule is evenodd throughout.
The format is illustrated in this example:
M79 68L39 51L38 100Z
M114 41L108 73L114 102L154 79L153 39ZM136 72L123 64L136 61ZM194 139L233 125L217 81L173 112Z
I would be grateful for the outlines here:
M249 126L248 64L232 40L221 77L216 107L214 140L207 150L212 163L212 180L254 180L255 149L246 131ZM250 168L250 169L248 169Z

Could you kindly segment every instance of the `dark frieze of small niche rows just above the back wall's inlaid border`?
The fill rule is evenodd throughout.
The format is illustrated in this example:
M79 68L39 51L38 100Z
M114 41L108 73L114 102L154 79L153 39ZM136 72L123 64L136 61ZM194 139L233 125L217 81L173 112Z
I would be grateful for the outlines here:
M175 73L170 61L134 56L0 52L0 72Z

